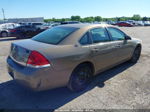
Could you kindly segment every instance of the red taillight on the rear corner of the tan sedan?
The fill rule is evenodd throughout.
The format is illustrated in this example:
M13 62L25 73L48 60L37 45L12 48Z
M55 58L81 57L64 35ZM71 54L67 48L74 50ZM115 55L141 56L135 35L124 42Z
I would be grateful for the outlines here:
M27 66L47 67L50 66L50 63L42 54L32 51L28 57Z

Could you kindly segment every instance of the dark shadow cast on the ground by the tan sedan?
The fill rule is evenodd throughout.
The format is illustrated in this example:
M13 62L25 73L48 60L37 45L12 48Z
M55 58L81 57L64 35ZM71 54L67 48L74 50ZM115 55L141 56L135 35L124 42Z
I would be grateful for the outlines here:
M93 78L89 87L82 92L71 92L66 87L34 92L11 80L0 84L0 109L54 110L69 103L95 87L103 88L105 81L133 66L124 63Z

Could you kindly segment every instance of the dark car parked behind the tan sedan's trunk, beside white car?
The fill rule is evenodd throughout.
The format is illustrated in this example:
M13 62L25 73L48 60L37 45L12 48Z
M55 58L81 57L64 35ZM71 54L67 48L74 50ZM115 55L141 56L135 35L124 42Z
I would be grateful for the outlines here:
M13 29L9 29L9 35L19 39L31 38L44 30L46 29L39 29L33 25L18 26Z

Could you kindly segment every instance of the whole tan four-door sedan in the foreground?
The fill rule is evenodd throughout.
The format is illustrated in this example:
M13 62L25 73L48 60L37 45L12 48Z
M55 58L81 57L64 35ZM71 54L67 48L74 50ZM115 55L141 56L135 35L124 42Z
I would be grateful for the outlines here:
M35 90L67 86L80 91L100 72L136 63L141 48L141 40L110 25L60 25L12 43L8 73Z

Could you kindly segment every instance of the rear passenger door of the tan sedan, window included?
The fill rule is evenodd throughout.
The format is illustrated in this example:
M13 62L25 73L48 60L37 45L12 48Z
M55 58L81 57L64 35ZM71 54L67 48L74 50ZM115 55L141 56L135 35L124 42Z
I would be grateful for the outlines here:
M90 36L92 39L91 58L95 65L95 71L100 72L116 62L115 49L105 28L91 29Z

